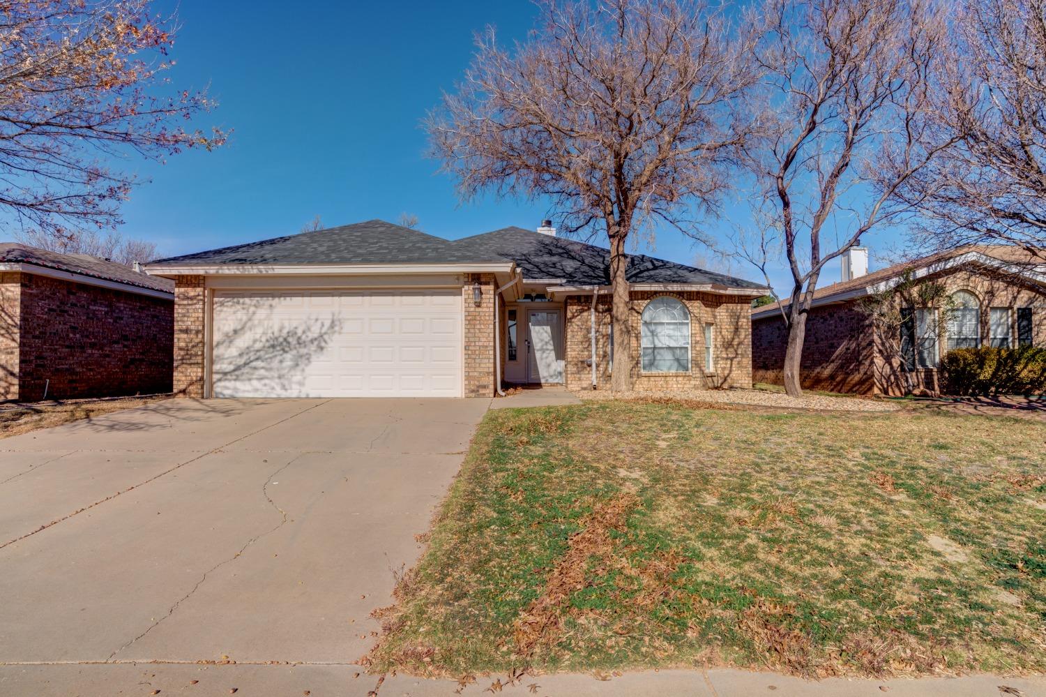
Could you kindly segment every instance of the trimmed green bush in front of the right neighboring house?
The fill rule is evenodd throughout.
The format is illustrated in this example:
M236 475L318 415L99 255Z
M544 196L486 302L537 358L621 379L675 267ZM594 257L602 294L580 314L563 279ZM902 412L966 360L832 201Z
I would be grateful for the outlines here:
M955 348L940 360L952 395L1042 395L1046 348Z

